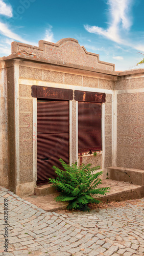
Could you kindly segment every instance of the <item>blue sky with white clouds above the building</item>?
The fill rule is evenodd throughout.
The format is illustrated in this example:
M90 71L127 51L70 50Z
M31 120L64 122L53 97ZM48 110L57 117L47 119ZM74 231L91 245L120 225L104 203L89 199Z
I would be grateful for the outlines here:
M136 66L144 53L143 0L0 0L0 56L11 42L38 46L72 37L115 70Z

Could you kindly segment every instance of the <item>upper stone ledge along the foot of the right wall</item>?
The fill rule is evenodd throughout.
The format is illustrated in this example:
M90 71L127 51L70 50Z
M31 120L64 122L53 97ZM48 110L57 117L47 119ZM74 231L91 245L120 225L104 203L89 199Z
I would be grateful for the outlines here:
M111 180L129 182L135 185L144 185L144 170L127 167L111 166L108 178Z

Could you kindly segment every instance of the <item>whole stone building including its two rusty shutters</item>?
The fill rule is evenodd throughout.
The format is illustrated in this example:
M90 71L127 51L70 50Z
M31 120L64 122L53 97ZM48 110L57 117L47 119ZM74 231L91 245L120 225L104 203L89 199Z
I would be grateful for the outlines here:
M110 166L143 169L144 69L116 72L73 38L12 42L0 68L1 185L33 194L60 157L104 177Z

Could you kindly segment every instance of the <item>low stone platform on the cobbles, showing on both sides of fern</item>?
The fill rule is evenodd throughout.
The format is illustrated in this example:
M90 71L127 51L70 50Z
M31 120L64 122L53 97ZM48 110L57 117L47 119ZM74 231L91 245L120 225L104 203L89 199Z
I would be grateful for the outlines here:
M110 179L105 179L102 181L103 184L99 187L111 187L110 193L107 196L99 197L98 200L102 202L111 202L111 201L124 201L128 199L136 199L144 197L144 186L130 184L128 182L115 181ZM56 202L54 198L58 195L52 194L47 196L30 196L25 197L26 201L29 201L39 208L42 208L46 211L54 211L57 209L65 209L67 203L65 202Z

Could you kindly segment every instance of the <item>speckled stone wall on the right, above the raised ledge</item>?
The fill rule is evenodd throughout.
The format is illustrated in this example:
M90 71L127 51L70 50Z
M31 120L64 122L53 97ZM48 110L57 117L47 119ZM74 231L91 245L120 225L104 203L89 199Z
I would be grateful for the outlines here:
M117 166L144 166L144 77L115 82L117 93ZM133 89L136 89L133 90Z

